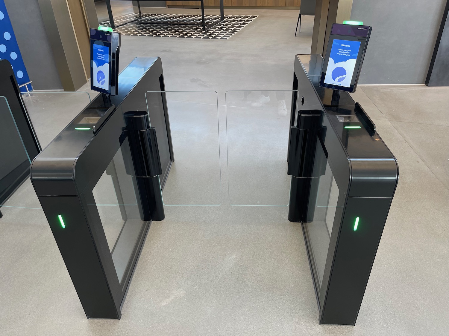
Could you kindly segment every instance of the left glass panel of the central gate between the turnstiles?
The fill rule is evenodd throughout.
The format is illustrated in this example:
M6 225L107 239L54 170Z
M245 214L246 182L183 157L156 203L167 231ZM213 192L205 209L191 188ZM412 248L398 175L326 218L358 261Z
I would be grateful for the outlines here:
M145 96L151 125L156 125L152 110L166 104L168 111L174 162L163 186L164 205L220 205L216 91L148 91Z

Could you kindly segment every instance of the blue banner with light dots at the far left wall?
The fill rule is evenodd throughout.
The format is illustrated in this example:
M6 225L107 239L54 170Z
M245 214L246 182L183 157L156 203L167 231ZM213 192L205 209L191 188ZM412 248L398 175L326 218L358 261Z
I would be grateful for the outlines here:
M0 59L9 60L19 85L30 82L4 0L0 0ZM32 90L31 84L27 86L28 90ZM20 90L26 92L25 86L21 87Z

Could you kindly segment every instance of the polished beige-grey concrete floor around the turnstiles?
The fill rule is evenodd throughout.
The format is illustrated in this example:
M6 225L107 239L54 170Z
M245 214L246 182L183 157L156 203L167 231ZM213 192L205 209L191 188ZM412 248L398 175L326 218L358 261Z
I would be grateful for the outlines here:
M129 10L112 3L114 13ZM225 13L248 12L259 17L229 40L122 39L122 68L161 56L167 90L217 91L222 205L166 207L120 321L85 318L42 211L2 207L0 335L449 334L449 88L359 86L353 95L396 155L400 181L356 326L319 325L301 228L287 208L226 205L225 91L290 89L294 55L311 43L313 17L295 38L296 11ZM46 118L31 115L48 127ZM6 205L39 207L29 182Z

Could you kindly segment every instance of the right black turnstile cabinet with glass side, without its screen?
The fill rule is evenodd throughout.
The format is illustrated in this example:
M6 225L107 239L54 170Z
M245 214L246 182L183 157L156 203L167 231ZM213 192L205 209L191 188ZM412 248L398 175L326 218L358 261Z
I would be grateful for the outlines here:
M296 55L289 220L301 222L319 322L356 323L399 177L395 157L348 92L320 86L321 55Z

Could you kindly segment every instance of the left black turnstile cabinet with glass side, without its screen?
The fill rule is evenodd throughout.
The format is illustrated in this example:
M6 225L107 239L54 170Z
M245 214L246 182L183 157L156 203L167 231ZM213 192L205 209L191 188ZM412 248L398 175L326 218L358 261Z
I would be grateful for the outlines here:
M120 319L150 222L164 218L160 184L173 160L165 96L145 100L165 90L161 59L136 57L118 82L118 95L98 95L31 164L88 318Z

